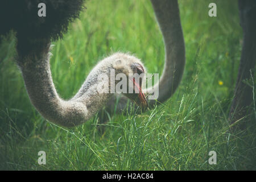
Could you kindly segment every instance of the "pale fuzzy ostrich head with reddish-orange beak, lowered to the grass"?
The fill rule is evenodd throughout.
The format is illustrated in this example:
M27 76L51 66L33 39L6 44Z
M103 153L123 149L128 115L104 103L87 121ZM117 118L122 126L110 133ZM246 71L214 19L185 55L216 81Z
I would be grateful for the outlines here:
M106 57L104 60L100 61L93 68L86 78L82 90L79 91L80 97L84 93L89 92L94 96L98 97L97 90L100 92L108 93L122 93L124 96L129 98L131 101L135 102L142 109L147 108L147 100L142 90L142 80L146 69L137 57L131 56L127 53L114 53L112 56ZM118 76L119 75L119 76ZM120 77L121 75L121 77ZM114 78L112 78L114 76ZM124 78L125 77L125 78ZM108 79L106 79L108 78ZM125 79L125 80L123 80ZM120 82L122 81L122 84ZM107 84L108 87L102 90L102 85ZM121 92L118 89L125 90ZM126 88L123 88L126 86ZM131 92L132 91L132 92ZM110 96L111 94L108 94ZM92 95L91 95L92 96Z

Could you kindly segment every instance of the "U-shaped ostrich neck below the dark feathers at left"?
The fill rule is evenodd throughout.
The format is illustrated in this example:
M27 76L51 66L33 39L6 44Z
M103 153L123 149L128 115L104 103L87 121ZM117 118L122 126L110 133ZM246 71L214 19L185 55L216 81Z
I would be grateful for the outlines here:
M36 45L38 46L38 45ZM80 89L71 100L59 97L52 81L49 64L50 42L41 45L42 49L21 55L18 49L18 64L32 104L47 120L67 127L79 125L88 120L104 105L110 93L98 93L94 82L90 88ZM18 46L19 47L19 46ZM83 86L88 84L84 83ZM79 96L78 96L79 95Z

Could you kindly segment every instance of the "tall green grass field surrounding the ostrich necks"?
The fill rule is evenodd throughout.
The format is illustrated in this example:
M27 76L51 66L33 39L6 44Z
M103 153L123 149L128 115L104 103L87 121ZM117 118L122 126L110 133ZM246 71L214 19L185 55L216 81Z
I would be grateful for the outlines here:
M217 3L216 18L208 16L210 2ZM254 115L240 133L230 133L227 120L241 55L238 7L230 0L179 4L187 61L179 88L146 113L114 115L104 134L97 116L72 129L42 118L14 64L15 39L6 38L0 47L0 169L255 170ZM162 73L164 45L150 1L94 0L86 7L53 43L51 70L61 97L72 97L97 61L116 51L134 53L148 72ZM40 166L41 150L47 164ZM208 164L212 150L216 165Z

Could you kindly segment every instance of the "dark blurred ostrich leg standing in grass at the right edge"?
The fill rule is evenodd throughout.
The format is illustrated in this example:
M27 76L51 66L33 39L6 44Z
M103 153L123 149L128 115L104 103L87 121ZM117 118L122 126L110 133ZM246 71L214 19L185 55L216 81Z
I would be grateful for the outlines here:
M231 123L246 117L253 103L253 88L244 81L251 78L256 60L256 1L239 0L240 24L243 30L243 45L238 70L236 89L229 113ZM243 119L246 121L247 119ZM241 128L245 127L242 123Z

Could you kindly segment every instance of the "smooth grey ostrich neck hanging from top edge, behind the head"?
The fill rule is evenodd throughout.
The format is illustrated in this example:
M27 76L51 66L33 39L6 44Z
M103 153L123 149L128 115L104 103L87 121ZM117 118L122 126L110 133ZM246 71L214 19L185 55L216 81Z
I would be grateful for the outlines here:
M165 46L165 61L162 77L158 84L146 92L159 90L159 102L164 102L172 96L180 83L185 65L185 46L180 23L179 6L176 0L151 0L158 25L163 34ZM155 104L150 100L149 104Z

